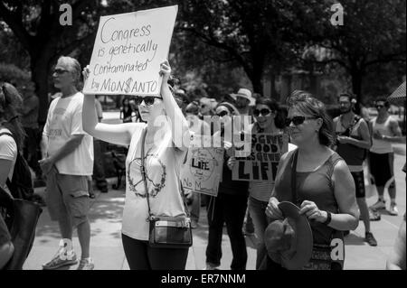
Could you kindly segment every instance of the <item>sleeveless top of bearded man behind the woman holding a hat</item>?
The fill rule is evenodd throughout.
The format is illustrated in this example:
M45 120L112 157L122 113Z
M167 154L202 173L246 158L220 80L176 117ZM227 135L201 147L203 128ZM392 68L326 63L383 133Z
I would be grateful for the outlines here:
M336 135L344 135L356 140L363 140L359 133L359 127L362 121L364 121L362 117L355 116L352 124L345 129L342 125L342 116L339 116L335 128ZM337 143L336 148L336 153L345 160L345 163L349 166L349 169L352 172L361 172L364 170L363 163L366 151L366 149L354 144L341 144L339 142Z

